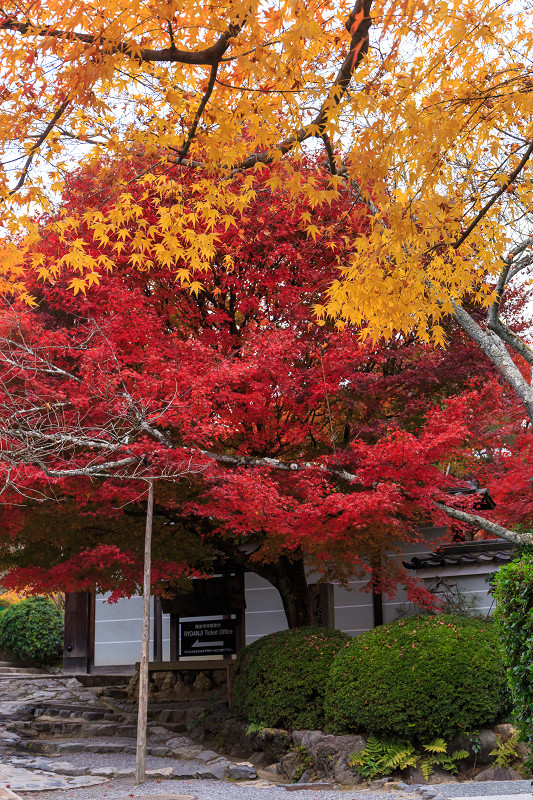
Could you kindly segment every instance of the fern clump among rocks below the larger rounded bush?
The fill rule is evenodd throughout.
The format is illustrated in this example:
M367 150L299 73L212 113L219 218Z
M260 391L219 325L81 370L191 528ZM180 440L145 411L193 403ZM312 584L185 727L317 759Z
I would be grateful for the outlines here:
M448 753L444 739L435 739L422 745L422 753L411 742L380 740L370 736L367 746L360 753L350 756L350 766L366 780L402 772L408 767L419 766L426 780L429 779L433 767L439 766L448 772L457 772L457 762L466 758L466 750L455 750Z

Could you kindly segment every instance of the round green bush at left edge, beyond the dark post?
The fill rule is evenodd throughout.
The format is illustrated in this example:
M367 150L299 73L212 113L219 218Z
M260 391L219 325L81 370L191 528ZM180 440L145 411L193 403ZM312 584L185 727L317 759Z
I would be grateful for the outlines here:
M16 661L55 664L63 648L63 615L46 597L29 597L0 617L0 648Z

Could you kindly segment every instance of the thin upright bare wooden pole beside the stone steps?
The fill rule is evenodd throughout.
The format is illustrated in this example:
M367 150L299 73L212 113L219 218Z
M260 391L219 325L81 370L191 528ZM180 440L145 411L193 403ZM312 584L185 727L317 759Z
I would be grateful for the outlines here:
M146 533L144 537L143 632L139 666L139 709L137 718L137 755L135 783L146 780L146 723L148 720L148 662L150 658L150 575L152 570L152 523L154 518L154 482L148 482Z

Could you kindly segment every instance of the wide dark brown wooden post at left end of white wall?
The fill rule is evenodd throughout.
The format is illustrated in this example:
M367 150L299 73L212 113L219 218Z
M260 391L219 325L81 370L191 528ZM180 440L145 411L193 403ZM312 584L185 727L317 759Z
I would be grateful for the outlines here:
M94 604L91 592L65 595L63 671L86 674L93 662Z

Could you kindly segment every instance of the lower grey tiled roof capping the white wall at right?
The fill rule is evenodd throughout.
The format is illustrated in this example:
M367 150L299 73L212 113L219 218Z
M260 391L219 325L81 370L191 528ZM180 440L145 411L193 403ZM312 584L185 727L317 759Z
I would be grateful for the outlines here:
M438 547L425 556L413 556L403 561L406 569L436 569L438 567L470 566L493 563L495 568L506 564L514 556L515 546L505 539L486 539Z

